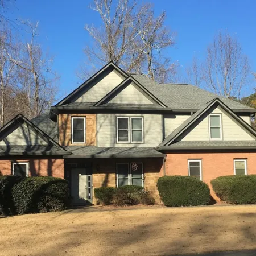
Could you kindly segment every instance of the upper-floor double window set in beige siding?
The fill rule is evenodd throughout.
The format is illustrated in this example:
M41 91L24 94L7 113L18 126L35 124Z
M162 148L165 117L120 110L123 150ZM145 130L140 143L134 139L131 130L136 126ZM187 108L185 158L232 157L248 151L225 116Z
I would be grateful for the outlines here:
M117 117L117 143L143 143L143 118Z

